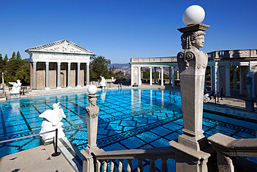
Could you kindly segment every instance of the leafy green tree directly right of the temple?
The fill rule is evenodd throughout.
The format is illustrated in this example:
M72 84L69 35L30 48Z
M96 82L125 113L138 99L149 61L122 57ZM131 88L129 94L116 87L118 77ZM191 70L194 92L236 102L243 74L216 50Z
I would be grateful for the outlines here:
M91 56L90 63L90 79L100 79L100 76L110 79L110 71L108 70L110 60L104 56Z

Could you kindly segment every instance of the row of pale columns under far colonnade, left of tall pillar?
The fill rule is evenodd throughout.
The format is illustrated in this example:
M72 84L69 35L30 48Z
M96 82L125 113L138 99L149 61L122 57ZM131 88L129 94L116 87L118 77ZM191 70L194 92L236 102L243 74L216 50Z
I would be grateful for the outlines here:
M157 79L156 79L156 68L160 67L160 73L159 74L159 79L160 79L160 85L164 86L164 68L169 68L169 84L172 84L172 86L175 86L175 66L139 66L139 65L131 65L131 86L134 84L138 84L139 86L142 85L142 67L143 68L149 68L150 70L150 86L154 84L157 84ZM154 70L154 71L153 71ZM153 72L154 72L154 82L153 82ZM177 74L179 76L179 71L177 71ZM179 77L177 77L179 78ZM148 78L147 78L148 79Z

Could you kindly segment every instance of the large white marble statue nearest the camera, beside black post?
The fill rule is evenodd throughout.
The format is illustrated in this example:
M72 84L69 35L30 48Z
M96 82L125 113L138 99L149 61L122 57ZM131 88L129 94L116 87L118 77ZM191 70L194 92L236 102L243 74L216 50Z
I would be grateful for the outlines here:
M65 137L63 132L63 122L61 121L63 118L66 118L63 109L59 106L60 102L53 104L53 110L44 111L40 114L40 118L44 118L41 131L42 132L49 132L52 130L58 129L58 139ZM56 136L56 132L49 132L46 134L40 134L42 136L43 141L52 141L53 137Z

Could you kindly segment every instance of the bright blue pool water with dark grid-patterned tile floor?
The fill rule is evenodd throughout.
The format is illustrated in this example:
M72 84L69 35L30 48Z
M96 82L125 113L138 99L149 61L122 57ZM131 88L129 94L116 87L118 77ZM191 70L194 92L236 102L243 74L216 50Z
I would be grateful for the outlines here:
M179 91L123 89L99 91L97 145L103 150L154 148L169 146L182 134L183 118ZM8 100L0 104L0 141L38 134L42 118L38 116L53 103L60 102L67 138L83 150L87 145L86 112L88 97L68 93ZM255 138L255 123L204 113L206 136L217 132L236 139ZM40 145L39 136L0 143L0 157ZM172 160L171 160L172 161Z

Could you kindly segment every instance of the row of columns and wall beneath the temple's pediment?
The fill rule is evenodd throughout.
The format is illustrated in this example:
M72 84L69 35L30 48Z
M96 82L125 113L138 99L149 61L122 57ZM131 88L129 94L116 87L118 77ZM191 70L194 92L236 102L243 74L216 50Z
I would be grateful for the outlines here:
M40 63L41 66L37 66L38 63ZM44 63L44 64L42 64ZM51 71L54 71L56 73L52 73L49 74L49 63L51 63L53 66L57 65L57 70L55 70L55 68L51 68ZM74 70L71 69L71 65L72 63L74 64L74 70L76 70L76 72ZM44 76L41 76L39 71L40 69L44 70L44 65L45 65L45 72L43 72L42 75L45 75ZM66 72L66 75L65 75L65 81L64 83L61 84L61 65L62 65L62 68L64 68L64 71ZM89 68L89 63L74 63L74 62L71 62L71 61L67 61L67 62L53 62L53 61L45 61L45 62L41 62L41 61L34 61L32 63L32 69L33 69L33 75L31 76L33 79L32 79L32 88L33 89L36 89L36 88L45 88L45 89L50 89L50 88L58 88L60 89L61 87L67 87L67 88L70 88L72 86L83 86L84 85L84 70L82 68L81 70L81 65L82 66L86 66L86 83L89 84L90 82L90 68ZM38 67L38 68L37 68ZM63 70L62 70L63 71ZM73 71L74 73L71 74L71 71ZM38 72L38 73L37 73ZM83 72L83 75L81 75L81 72ZM56 77L57 75L57 77ZM71 76L72 75L72 76ZM40 78L38 78L40 77ZM56 83L54 81L49 81L49 78L51 78L51 80L54 80L56 79ZM39 86L37 84L39 80L41 79L45 79L45 81L42 81L43 84L40 84ZM71 82L71 80L73 82ZM45 83L45 84L44 84ZM55 85L55 86L54 86Z

